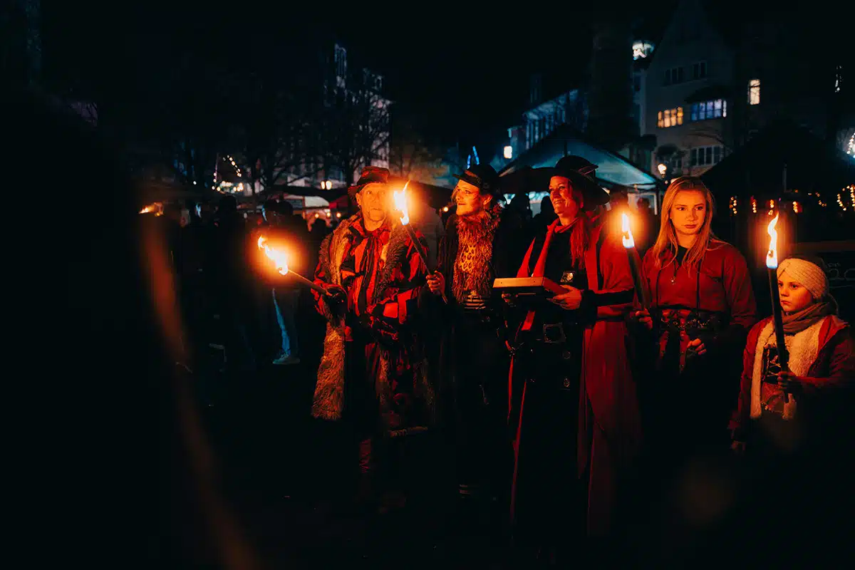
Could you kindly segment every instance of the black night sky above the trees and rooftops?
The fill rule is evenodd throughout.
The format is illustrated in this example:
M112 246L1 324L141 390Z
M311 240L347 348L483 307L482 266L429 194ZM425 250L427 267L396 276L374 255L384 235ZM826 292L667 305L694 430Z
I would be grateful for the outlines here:
M328 34L348 47L349 61L384 75L386 95L428 138L466 145L482 144L518 121L531 73L544 73L545 96L554 96L578 84L590 56L592 10L581 3L528 13L518 4L507 11L398 4L371 13L315 4L157 0L128 9L46 2L46 65L80 78L109 76L111 89L130 96L158 80L173 45L191 44L204 57L239 64L257 56L259 46L275 54L282 38ZM654 33L661 32L656 24ZM284 53L277 63L286 73Z

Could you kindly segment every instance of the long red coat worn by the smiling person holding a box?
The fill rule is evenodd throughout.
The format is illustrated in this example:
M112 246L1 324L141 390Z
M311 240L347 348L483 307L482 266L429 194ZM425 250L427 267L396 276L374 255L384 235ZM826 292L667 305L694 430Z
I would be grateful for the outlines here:
M558 220L548 230L554 239L562 236L555 233L557 224ZM633 278L621 236L603 231L604 226L593 229L591 245L585 253L588 288L594 293L631 290ZM569 233L563 236L569 238ZM534 242L522 261L520 277L528 277L525 273L530 267L533 247ZM599 306L597 320L587 326L583 334L577 467L579 477L588 475L587 532L591 536L609 532L616 507L618 479L640 451L638 397L628 361L628 332L624 319L631 309L632 303ZM510 377L512 382L513 366ZM515 392L513 386L510 392ZM522 425L525 386L518 399L519 403L511 405L511 410L519 410L516 416L510 417L512 426ZM515 461L519 459L519 435L517 429Z

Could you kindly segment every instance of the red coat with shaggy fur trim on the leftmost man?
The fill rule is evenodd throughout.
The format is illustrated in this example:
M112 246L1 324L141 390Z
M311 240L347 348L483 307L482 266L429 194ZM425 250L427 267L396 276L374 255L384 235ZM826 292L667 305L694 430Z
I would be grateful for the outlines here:
M367 380L375 388L380 423L391 435L420 430L431 422L433 390L410 326L425 270L397 222L367 232L362 214L356 214L324 238L315 283L341 285L347 301L346 306L335 306L315 293L315 306L327 318L312 404L315 418L341 420L347 414L345 383ZM357 349L351 346L355 336L369 339L365 374L374 378L345 378L347 351Z

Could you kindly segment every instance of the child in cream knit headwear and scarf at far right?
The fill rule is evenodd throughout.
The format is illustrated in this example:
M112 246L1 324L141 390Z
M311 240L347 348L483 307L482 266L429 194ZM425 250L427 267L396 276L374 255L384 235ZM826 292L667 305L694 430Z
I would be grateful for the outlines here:
M792 420L819 419L825 404L855 379L852 329L837 316L823 261L785 259L778 266L778 291L788 369L781 370L778 362L772 318L758 322L748 334L740 397L730 424L736 451L746 449L752 432L775 432L776 444L797 445L794 440L805 434L804 422L796 429ZM752 429L756 423L768 429Z

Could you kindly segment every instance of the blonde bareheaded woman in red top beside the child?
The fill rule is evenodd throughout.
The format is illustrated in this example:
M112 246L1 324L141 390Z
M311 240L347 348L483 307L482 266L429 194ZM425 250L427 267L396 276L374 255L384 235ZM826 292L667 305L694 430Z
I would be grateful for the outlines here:
M651 306L636 316L655 339L652 370L640 381L646 442L678 464L727 448L741 349L757 320L746 260L713 234L713 206L701 179L675 179L641 270Z

